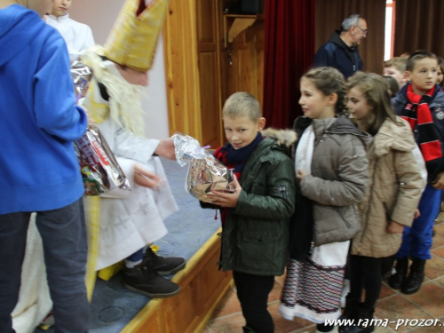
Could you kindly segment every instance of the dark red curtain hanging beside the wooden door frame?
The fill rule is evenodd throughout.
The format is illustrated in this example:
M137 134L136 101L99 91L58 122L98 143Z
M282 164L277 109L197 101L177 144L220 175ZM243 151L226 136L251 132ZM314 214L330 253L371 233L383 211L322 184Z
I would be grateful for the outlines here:
M264 117L267 126L289 128L297 115L299 79L314 56L314 1L266 0Z

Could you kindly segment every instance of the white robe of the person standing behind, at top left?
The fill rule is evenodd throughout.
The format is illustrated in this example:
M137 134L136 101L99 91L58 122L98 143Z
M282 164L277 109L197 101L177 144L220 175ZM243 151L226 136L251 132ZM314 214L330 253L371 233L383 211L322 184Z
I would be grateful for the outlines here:
M91 28L86 24L69 19L69 14L59 18L46 15L46 23L59 30L67 44L67 52L71 61L78 59L80 52L94 45Z

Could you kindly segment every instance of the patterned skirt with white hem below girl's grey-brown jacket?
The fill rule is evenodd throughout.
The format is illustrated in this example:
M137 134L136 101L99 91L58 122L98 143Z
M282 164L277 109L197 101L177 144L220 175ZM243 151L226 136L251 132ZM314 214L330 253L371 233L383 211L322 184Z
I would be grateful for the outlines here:
M341 294L350 241L317 246L305 263L289 259L282 290L281 315L316 323L341 315Z

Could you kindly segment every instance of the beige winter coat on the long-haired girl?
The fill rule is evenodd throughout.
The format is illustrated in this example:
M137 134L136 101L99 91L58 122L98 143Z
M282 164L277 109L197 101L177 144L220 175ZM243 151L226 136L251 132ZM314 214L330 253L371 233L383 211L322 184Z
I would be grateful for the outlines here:
M352 254L384 258L400 249L402 234L387 233L390 220L411 226L424 180L412 150L415 139L407 122L387 119L371 143L369 188L359 204L361 231L353 238Z

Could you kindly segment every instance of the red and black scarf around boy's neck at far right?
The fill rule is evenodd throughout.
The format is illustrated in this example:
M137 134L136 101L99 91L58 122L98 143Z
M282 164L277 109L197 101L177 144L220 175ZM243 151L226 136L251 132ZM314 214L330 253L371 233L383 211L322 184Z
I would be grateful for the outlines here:
M442 149L440 139L435 132L433 116L429 104L435 93L436 86L423 96L413 92L411 83L408 84L406 96L408 103L401 111L400 117L406 120L413 130L418 132L418 145L423 153L425 165L429 172L429 181L437 176L437 164L442 164Z

